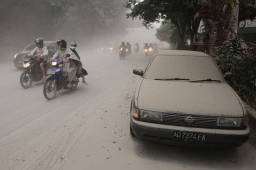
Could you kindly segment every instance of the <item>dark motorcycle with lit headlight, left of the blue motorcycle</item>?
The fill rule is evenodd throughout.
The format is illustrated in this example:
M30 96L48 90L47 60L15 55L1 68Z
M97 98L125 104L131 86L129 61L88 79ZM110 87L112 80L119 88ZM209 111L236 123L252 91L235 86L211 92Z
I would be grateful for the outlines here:
M23 58L23 68L25 69L20 75L20 85L23 88L30 88L33 82L42 80L43 75L39 63L43 61L41 54L33 56L26 55ZM47 66L46 66L47 67Z

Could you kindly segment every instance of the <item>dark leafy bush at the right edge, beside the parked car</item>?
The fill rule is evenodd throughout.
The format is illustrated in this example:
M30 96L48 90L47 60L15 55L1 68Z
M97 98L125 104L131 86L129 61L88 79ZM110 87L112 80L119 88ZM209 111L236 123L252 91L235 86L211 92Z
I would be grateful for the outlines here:
M256 56L250 48L235 35L229 32L228 39L216 47L211 56L214 57L222 73L232 72L230 86L245 101L249 102L255 94Z

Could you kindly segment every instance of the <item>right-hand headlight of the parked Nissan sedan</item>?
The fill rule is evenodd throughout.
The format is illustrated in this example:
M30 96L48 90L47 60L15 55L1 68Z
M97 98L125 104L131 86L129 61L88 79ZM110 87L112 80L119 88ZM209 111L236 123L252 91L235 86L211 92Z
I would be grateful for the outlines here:
M234 118L234 117L218 117L216 125L219 127L241 127L247 126L248 117Z

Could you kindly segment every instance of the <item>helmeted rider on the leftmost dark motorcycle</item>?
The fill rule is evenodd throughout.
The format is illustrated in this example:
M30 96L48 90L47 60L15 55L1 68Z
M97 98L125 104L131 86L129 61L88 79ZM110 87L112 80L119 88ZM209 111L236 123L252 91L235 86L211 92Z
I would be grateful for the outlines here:
M43 46L43 40L41 38L35 39L35 45L36 47L28 55L36 55L42 59L39 61L39 65L42 71L42 79L45 80L45 65L47 64L48 59L48 49L46 48L46 46Z

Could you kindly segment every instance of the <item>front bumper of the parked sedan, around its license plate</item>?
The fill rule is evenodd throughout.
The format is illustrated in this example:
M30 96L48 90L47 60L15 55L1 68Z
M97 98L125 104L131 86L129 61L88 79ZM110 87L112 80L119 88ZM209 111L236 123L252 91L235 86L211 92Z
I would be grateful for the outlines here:
M137 121L132 116L130 126L134 135L138 138L149 139L160 143L197 147L236 147L245 143L250 134L249 127L243 130L181 127L177 125ZM204 134L206 140L202 142L174 138L174 132L177 131Z

